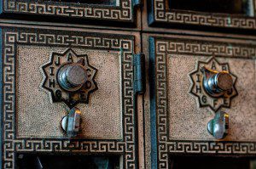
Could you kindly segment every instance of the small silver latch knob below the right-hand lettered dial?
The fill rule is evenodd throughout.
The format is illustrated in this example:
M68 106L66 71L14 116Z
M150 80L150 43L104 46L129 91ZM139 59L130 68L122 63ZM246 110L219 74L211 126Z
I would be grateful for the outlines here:
M229 115L224 111L218 111L214 118L208 122L207 129L214 138L225 138L229 132Z

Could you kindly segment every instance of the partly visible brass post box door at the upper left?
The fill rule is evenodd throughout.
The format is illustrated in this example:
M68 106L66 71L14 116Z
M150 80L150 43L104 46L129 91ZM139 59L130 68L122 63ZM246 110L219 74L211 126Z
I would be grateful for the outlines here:
M135 25L137 0L1 0L0 13L9 19L44 20L90 25Z

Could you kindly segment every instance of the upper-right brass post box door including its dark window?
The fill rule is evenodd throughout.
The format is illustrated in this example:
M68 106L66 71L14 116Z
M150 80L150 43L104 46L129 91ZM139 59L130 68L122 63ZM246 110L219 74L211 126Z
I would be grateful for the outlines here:
M255 30L254 0L150 0L148 1L148 25L154 27L189 30L219 28ZM182 27L181 27L182 26ZM224 29L223 29L224 30Z

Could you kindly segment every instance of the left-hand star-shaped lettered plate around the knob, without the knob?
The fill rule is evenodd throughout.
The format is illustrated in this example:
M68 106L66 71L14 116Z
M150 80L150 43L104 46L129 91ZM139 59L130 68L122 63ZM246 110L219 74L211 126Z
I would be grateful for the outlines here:
M84 69L87 72L88 79L84 83L84 87L75 92L67 92L63 89L57 78L58 71L61 66L67 63L76 63L80 59L84 59ZM76 54L71 48L62 54L53 53L50 56L50 62L42 67L44 70L44 82L43 87L49 91L53 102L63 101L68 107L73 108L79 103L88 103L90 93L96 91L97 85L95 81L96 68L89 64L87 54Z

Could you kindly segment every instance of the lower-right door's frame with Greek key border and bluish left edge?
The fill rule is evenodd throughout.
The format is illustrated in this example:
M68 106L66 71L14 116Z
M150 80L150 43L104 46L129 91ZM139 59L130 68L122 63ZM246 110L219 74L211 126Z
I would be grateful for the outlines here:
M150 127L147 129L150 132L145 133L145 139L146 142L151 142L150 145L146 145L146 154L151 157L148 168L168 168L171 155L255 156L256 142L252 141L172 140L169 138L166 59L168 54L255 59L256 43L210 37L156 34L143 36L144 42L148 41L149 52L149 91L146 94L150 94L150 100L145 103L146 112L148 111L149 114L148 117L146 116L146 126ZM232 48L229 48L229 45ZM147 122L147 119L150 122Z

